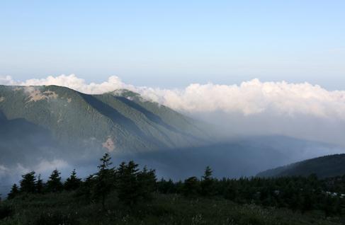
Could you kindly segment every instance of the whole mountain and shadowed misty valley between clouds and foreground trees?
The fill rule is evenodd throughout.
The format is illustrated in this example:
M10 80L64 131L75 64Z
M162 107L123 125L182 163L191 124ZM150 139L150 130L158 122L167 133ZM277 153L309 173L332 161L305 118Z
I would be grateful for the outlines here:
M205 166L218 178L251 176L344 152L291 137L217 132L128 90L89 95L61 86L0 86L0 183L18 181L30 170L44 177L54 168L68 175L77 167L87 175L105 151L115 164L134 159L174 179L201 175Z

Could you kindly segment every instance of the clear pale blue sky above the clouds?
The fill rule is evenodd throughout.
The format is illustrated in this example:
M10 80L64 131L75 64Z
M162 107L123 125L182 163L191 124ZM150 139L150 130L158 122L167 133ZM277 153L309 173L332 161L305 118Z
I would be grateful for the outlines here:
M0 1L0 76L345 89L345 1Z

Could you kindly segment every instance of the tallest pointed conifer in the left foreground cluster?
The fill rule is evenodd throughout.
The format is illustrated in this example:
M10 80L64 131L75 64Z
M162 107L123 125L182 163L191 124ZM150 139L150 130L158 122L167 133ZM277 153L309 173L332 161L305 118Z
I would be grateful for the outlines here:
M113 190L113 168L111 166L111 156L108 153L100 158L101 165L98 166L98 173L95 174L94 195L101 199L102 208L105 209L106 197Z

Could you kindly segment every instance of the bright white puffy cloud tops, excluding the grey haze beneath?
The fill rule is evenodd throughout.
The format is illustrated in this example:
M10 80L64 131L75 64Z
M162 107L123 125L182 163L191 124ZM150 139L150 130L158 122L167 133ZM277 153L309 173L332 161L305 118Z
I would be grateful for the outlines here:
M192 83L182 89L132 86L118 78L109 77L103 83L86 83L74 74L48 76L45 79L14 81L11 76L0 77L0 84L66 86L83 93L105 93L126 88L140 93L147 100L187 113L241 113L256 115L312 115L345 120L345 91L327 91L310 83L261 82L259 79L240 85Z

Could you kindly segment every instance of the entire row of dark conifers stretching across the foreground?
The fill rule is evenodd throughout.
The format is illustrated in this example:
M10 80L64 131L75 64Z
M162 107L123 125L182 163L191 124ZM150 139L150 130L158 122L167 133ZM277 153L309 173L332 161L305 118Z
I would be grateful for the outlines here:
M282 178L213 178L210 167L201 178L184 181L157 181L155 171L139 169L133 161L111 167L111 157L101 158L97 173L82 180L76 171L62 183L55 170L46 183L35 172L23 175L19 187L13 185L11 200L25 193L74 191L75 197L87 202L100 202L106 208L108 195L116 193L118 200L132 206L139 201L152 200L153 193L183 195L186 198L223 197L239 204L259 204L265 207L285 207L294 211L318 210L326 216L345 214L345 176L320 180L316 175Z

